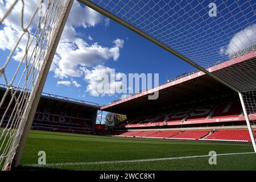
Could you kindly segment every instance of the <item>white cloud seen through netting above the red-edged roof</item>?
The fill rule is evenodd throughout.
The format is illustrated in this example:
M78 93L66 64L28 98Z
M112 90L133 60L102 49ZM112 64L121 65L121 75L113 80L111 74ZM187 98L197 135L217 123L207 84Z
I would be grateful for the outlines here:
M238 32L230 40L228 47L221 47L220 53L225 53L231 56L233 53L241 51L247 47L256 44L256 24L246 27L244 30Z

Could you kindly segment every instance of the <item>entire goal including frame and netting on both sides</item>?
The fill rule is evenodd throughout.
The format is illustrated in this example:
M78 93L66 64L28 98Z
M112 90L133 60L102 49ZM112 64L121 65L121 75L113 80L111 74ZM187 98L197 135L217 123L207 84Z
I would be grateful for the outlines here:
M256 3L228 0L216 1L213 6L197 0L79 1L237 92L256 152L250 121L251 115L256 115ZM0 63L0 81L6 86L0 99L0 108L5 110L0 118L2 170L20 162L72 4L73 0L0 1L0 34L16 37L6 40L10 42L5 50L9 55ZM15 68L10 68L12 61ZM209 69L223 65L224 69L214 72Z

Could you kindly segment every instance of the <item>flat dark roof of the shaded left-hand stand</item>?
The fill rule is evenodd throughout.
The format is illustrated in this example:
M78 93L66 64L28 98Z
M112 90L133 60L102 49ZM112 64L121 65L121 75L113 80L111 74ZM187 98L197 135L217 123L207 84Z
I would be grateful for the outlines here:
M18 88L18 93L20 89ZM3 94L6 92L6 86L0 84L0 97L3 97ZM7 94L7 101L11 100L10 94ZM87 102L82 100L77 100L74 98L57 96L49 93L42 93L42 96L39 101L39 106L49 107L49 108L59 108L63 110L76 110L76 111L93 111L100 109L100 105Z

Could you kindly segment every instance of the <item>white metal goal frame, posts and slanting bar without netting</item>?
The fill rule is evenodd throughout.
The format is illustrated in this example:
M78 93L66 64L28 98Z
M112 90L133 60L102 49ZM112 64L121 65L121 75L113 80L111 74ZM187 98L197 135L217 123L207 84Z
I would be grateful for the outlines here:
M18 165L20 163L20 160L22 158L22 154L23 154L24 147L25 147L25 144L26 144L26 141L27 141L28 133L30 131L32 122L34 121L34 116L35 116L36 109L37 109L38 104L39 104L41 94L43 92L43 88L44 88L44 84L46 82L47 75L49 73L49 69L51 67L53 57L55 56L57 46L59 44L61 35L63 33L65 24L66 24L67 19L68 19L68 15L71 11L71 8L72 8L73 2L74 2L74 0L68 0L68 1L69 1L69 3L68 3L68 6L67 6L67 10L65 11L63 18L61 19L60 26L58 28L56 28L56 36L54 36L55 37L54 40L50 40L51 41L51 51L49 51L49 53L47 53L47 58L45 59L46 65L45 65L44 68L42 68L42 71L40 71L40 73L39 73L40 74L40 79L36 80L36 83L35 83L36 86L34 86L34 88L31 90L30 97L28 98L30 105L25 108L25 112L23 113L23 115L27 116L27 119L26 119L26 121L24 121L25 126L24 126L24 130L22 131L21 138L19 139L19 143L14 143L14 144L18 144L18 148L17 148L17 150L15 150L16 151L15 156L14 156L14 159L11 160L10 167L18 167ZM158 40L156 40L155 38L152 38L152 36L146 34L146 32L143 32L143 31L139 30L138 28L134 27L130 23L127 23L125 20L123 20L121 18L118 18L118 16L115 16L114 14L110 13L109 11L107 11L105 9L102 9L100 6L94 4L92 1L89 1L89 0L77 0L77 1L79 1L80 3L90 7L91 9L97 11L98 13L107 16L108 18L114 20L115 22L121 24L122 26L125 26L126 28L128 28L129 30L137 33L138 35L142 36L143 38L146 38L150 42L156 44L157 46L159 46L159 47L165 49L166 51L172 53L173 55L179 57L181 60L187 62L188 64L192 65L193 67L199 69L200 71L204 72L208 76L212 77L214 80L220 82L221 84L224 84L228 88L234 90L234 92L238 93L238 96L240 98L240 102L241 102L241 105L242 105L242 110L243 110L243 113L245 115L246 125L247 125L247 128L249 130L251 143L253 144L254 152L256 152L255 138L254 138L254 135L253 135L253 130L251 128L250 119L249 119L249 116L247 114L245 101L244 101L243 94L242 94L241 90L237 89L236 86L233 86L232 84L225 81L221 77L218 77L218 76L214 75L210 71L210 69L205 69L205 68L201 67L199 64L195 63L191 59L188 59L188 57L185 57L185 56L181 55L179 52L175 51L171 47L168 47L165 44L163 44L162 42L159 42ZM16 2L18 2L18 1L16 1ZM10 12L8 12L6 14L6 16L9 13ZM102 112L100 114L102 116ZM26 117L22 116L22 118L26 118ZM100 121L101 121L101 119L100 119ZM12 158L12 156L9 157L9 158Z

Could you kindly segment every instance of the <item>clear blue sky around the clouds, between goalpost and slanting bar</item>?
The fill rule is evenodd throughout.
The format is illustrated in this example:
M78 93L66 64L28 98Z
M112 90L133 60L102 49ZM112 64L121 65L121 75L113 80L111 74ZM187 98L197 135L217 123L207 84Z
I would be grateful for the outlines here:
M83 9L82 11L87 11L84 5L78 4L77 2L73 6L81 6ZM73 13L74 10L71 11L69 16L73 16ZM114 60L113 57L109 57L108 59L104 59L104 61L99 61L100 64L92 64L86 67L86 69L92 70L97 65L103 65L104 67L114 68L116 73L120 72L125 73L126 75L128 73L159 73L159 84L166 82L167 78L193 69L190 65L184 63L184 61L181 61L176 56L164 51L162 48L156 46L120 24L106 19L100 14L97 16L98 18L96 19L99 20L94 20L94 22L96 22L94 24L89 24L87 23L89 21L87 21L85 23L85 27L73 26L75 27L76 34L79 34L79 36L76 36L76 38L84 40L84 42L88 44L88 47L97 43L101 47L111 48L114 46L113 41L116 39L121 39L124 43L123 46L119 48L119 56L117 60ZM81 14L79 18L80 19L77 20L77 22L82 22L88 17L83 17L83 14ZM108 20L109 23L106 23ZM90 39L92 38L91 40L89 39L89 36ZM7 52L8 51L2 51L0 49L1 56L3 54L7 55ZM70 61L72 62L73 60ZM16 68L17 65L18 61L12 60L9 65L9 69ZM62 81L68 82L68 84L69 82L76 81L77 84L81 86L77 88L73 84L57 84L57 82ZM96 102L100 105L117 100L122 95L106 94L105 96L93 96L86 88L88 84L88 80L85 80L83 76L72 77L68 75L67 77L61 77L56 76L56 73L51 71L48 74L43 92Z

